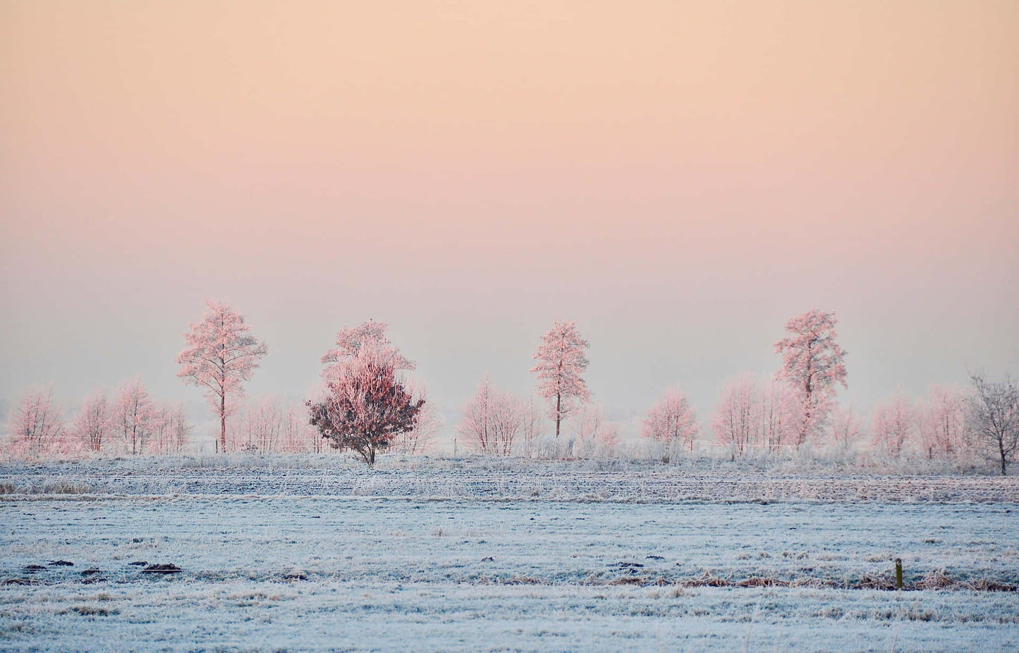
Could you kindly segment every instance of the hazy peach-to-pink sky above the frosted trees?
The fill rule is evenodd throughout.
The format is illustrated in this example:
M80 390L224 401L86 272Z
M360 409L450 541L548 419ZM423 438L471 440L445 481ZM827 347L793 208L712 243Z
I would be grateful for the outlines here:
M836 311L843 400L1019 373L1019 4L0 3L0 398L176 378L205 299L307 396L368 318L455 419L555 320L702 419ZM451 426L451 424L450 424Z

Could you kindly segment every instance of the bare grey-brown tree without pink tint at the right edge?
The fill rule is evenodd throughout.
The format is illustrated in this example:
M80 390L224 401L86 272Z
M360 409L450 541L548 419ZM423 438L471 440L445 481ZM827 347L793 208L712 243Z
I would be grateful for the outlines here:
M991 381L975 373L970 374L970 381L973 392L966 406L967 423L1005 476L1019 452L1019 385L1008 374Z

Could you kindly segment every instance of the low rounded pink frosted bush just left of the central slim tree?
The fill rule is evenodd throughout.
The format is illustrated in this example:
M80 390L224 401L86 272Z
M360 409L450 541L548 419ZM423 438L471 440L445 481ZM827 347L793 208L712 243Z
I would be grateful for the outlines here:
M457 432L481 454L508 456L523 427L524 407L520 400L495 388L485 374L474 397L464 406Z

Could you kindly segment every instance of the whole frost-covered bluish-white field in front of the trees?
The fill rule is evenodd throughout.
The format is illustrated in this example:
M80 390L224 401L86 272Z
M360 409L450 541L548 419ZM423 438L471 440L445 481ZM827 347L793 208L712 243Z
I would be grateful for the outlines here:
M1017 480L8 465L0 650L1019 650Z

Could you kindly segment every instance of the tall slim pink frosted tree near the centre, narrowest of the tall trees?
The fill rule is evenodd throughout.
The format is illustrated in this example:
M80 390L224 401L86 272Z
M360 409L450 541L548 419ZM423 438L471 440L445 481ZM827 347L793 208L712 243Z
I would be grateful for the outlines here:
M586 402L591 398L580 377L588 365L584 350L590 346L577 333L577 322L555 322L541 337L541 345L532 356L538 364L531 372L538 375L538 394L548 401L556 438L562 420L577 407L575 401Z

